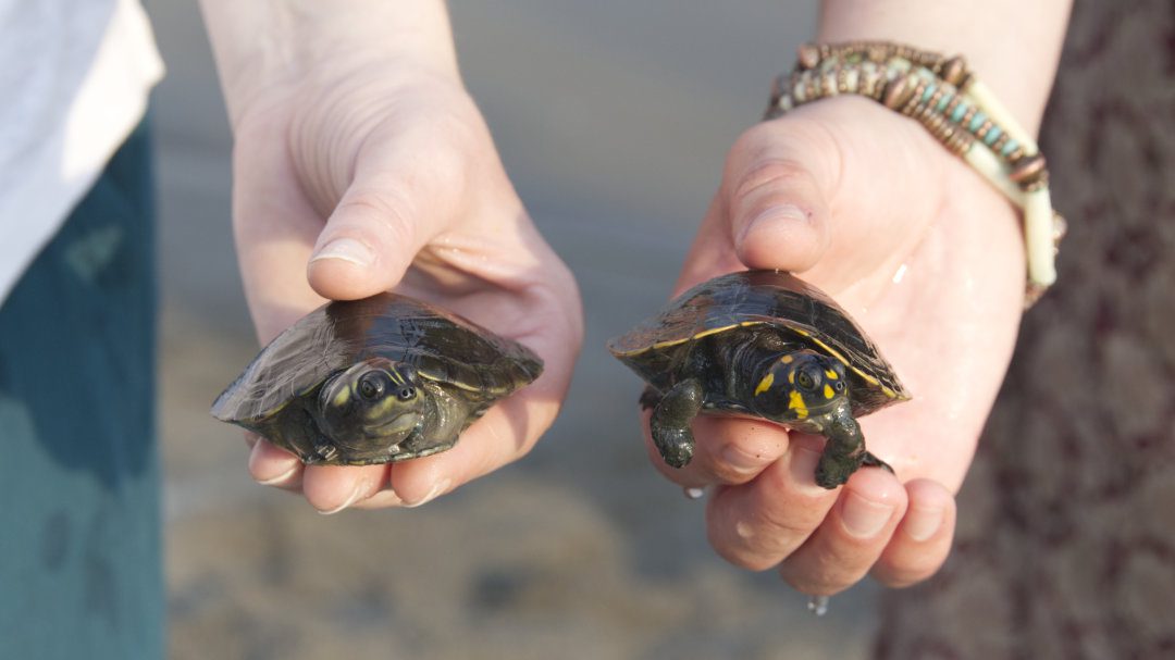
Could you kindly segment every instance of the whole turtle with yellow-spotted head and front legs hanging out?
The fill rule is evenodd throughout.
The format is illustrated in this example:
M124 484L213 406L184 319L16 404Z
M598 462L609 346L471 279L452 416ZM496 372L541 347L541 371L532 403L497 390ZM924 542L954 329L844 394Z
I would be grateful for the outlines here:
M911 398L860 326L830 296L776 270L731 272L685 291L611 353L647 385L662 458L693 457L697 415L763 418L827 438L815 481L835 489L861 466L893 469L865 449L857 418Z

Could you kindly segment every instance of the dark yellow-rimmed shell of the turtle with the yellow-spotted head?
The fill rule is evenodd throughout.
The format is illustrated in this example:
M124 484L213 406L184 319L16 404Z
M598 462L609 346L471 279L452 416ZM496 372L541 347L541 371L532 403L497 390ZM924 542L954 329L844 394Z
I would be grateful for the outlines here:
M865 331L827 294L774 270L731 272L703 282L665 305L607 349L644 380L666 390L693 339L738 342L743 329L771 325L844 363L854 415L865 415L909 393Z

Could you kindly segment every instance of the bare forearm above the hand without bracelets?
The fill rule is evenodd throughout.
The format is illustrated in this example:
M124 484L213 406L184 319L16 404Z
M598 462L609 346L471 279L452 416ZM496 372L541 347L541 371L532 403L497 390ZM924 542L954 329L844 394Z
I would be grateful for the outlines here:
M457 75L443 0L201 0L233 126L274 85L389 60ZM372 70L387 72L385 67Z

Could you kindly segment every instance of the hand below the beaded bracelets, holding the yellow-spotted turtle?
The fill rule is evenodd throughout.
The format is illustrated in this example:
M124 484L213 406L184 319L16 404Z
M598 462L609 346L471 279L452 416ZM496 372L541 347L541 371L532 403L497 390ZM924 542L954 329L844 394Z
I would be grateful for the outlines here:
M719 554L778 565L805 593L868 572L889 586L929 577L1015 341L1025 262L1013 208L915 122L825 100L734 144L676 292L748 268L824 289L894 365L913 400L860 423L897 476L862 469L828 491L813 477L822 438L718 417L696 419L683 470L647 442L654 465L682 486L714 486L706 525Z

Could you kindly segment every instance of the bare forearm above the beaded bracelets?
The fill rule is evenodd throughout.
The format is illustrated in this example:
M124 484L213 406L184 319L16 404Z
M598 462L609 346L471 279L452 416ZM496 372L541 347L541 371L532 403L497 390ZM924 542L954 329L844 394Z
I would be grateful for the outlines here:
M824 0L818 41L889 40L962 55L1035 134L1056 74L1072 0Z

